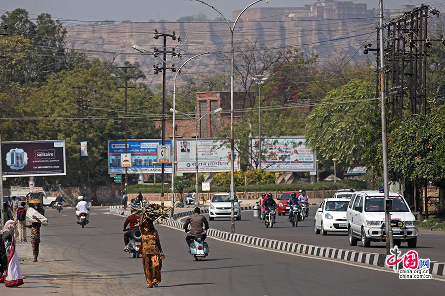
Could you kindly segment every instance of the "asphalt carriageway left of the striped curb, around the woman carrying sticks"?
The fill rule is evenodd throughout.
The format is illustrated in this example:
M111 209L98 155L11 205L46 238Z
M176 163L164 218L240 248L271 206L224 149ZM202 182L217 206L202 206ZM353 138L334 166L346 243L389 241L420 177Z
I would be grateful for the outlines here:
M196 262L187 253L184 232L156 226L166 259L163 261L162 283L158 288L147 289L141 259L133 259L122 251L125 217L107 212L105 208L93 208L91 222L82 229L75 223L73 209L64 209L61 213L52 209L46 211L50 225L41 230L38 264L50 270L41 276L55 287L57 294L348 296L418 291L441 295L445 287L444 281L428 280L419 286L418 281L399 280L392 272L271 252L211 238L207 239L210 256ZM238 225L243 223L247 225L249 221ZM277 226L284 228L284 225ZM293 230L300 230L298 228Z

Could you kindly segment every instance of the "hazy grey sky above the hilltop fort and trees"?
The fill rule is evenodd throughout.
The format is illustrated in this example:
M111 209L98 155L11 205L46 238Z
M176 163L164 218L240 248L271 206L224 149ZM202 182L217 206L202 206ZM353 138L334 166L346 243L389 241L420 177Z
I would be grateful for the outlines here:
M175 21L181 16L204 13L210 18L217 16L211 8L190 0L2 0L0 13L15 8L24 8L30 14L51 14L54 18L103 21L105 19L123 21L148 21L166 19ZM252 0L207 0L230 19L233 10L243 9ZM300 7L315 0L273 0L260 2L253 7ZM356 0L366 3L368 8L378 7L378 0ZM425 3L419 0L384 0L385 8L398 8L403 4ZM437 2L431 2L433 3ZM442 9L441 9L442 10ZM442 10L443 11L443 10Z

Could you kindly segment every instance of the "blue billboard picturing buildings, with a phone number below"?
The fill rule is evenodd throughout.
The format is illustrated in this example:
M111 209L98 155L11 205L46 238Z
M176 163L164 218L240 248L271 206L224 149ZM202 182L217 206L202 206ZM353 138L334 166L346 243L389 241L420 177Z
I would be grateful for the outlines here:
M161 140L128 140L127 153L131 154L131 163L127 167L129 174L161 173L158 163L158 146ZM172 141L165 141L165 145L172 147ZM108 174L125 174L122 166L121 154L125 153L125 140L108 141ZM172 162L173 155L170 155ZM165 173L172 173L172 164L165 164Z

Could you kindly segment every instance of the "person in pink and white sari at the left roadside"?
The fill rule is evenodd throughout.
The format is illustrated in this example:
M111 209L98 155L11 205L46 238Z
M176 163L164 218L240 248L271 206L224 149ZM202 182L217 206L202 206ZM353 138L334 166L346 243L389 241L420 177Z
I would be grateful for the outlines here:
M4 224L3 229L0 230L0 243L4 246L3 250L6 251L5 255L7 258L7 266L0 263L0 283L4 282L6 287L23 285L22 271L20 270L20 263L15 250L15 237L18 235L15 228L16 224L16 221L8 220Z

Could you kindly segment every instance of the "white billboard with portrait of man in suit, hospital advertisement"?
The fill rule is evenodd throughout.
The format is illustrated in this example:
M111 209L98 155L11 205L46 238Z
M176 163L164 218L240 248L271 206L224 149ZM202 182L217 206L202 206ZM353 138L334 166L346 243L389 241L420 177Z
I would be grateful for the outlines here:
M196 140L180 139L176 141L177 171L191 173L196 171ZM223 141L198 139L198 170L200 173L229 172L230 148ZM239 170L235 152L235 170Z

